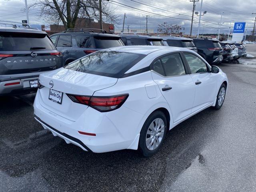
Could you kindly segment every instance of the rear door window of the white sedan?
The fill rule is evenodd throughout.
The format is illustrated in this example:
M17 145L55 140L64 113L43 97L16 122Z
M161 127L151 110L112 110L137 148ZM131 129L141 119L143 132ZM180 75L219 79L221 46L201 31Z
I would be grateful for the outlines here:
M166 76L185 75L185 68L180 54L170 54L161 58Z

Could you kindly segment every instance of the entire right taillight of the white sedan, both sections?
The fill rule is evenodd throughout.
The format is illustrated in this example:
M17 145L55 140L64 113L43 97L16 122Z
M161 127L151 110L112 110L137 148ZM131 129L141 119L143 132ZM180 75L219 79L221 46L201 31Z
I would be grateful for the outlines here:
M120 108L129 96L129 94L115 96L67 95L73 102L88 105L100 112L108 112Z

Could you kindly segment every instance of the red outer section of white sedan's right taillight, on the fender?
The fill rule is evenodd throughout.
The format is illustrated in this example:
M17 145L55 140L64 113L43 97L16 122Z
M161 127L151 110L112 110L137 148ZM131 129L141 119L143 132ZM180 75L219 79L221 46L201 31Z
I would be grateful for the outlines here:
M114 106L123 102L127 95L120 95L114 97L94 97L90 101L91 106Z

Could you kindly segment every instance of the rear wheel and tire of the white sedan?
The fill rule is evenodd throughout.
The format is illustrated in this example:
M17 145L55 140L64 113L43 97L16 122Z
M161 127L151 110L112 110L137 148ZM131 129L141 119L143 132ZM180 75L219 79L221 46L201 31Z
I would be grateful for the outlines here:
M154 128L158 128L159 122L162 126L160 126L159 130L155 130ZM143 156L150 157L158 152L166 137L166 131L167 120L164 113L155 111L150 114L140 131L139 150ZM146 137L148 138L147 140Z

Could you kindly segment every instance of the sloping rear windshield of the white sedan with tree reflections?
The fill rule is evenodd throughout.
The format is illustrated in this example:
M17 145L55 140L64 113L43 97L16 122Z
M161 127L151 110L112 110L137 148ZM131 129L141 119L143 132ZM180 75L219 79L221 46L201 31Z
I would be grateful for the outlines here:
M72 62L64 68L84 73L120 78L127 70L145 56L144 54L128 52L98 51Z

